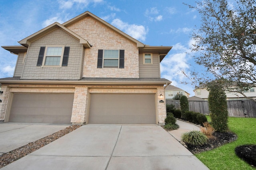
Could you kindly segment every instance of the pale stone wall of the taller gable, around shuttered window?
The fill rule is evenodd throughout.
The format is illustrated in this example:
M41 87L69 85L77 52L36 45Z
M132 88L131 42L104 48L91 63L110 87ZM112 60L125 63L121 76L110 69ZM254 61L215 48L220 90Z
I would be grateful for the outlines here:
M91 49L85 50L83 77L139 78L138 47L90 16L67 27L86 39ZM124 68L97 68L98 49L124 49Z

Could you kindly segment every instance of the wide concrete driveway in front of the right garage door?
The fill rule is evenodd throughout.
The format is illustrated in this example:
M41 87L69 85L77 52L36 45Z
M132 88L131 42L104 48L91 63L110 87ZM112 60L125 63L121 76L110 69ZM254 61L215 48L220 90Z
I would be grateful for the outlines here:
M3 170L208 170L157 125L84 125Z

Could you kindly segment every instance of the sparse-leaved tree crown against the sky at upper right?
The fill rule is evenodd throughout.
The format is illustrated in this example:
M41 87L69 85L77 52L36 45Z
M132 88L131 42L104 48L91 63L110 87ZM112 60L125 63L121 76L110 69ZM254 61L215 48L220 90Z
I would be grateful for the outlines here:
M194 71L190 80L200 85L224 78L224 90L256 102L244 94L256 87L256 1L203 0L188 6L198 11L202 21L192 35L192 54L211 75Z

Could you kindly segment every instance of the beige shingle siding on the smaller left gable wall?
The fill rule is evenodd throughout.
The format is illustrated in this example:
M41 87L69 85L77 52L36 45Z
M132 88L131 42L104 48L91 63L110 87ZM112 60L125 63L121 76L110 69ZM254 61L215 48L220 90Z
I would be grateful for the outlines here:
M64 45L65 47L70 47L68 66L36 66L40 47L45 47L47 45ZM28 57L24 65L21 79L78 80L81 78L80 65L82 64L82 54L83 46L77 39L60 28L56 29L31 43L27 51Z

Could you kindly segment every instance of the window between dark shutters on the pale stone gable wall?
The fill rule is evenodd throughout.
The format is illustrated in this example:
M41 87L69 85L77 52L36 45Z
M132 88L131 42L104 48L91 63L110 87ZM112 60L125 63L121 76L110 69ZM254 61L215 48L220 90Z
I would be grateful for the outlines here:
M119 65L119 50L104 50L103 67L116 67Z

